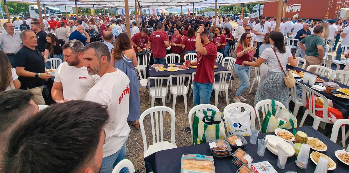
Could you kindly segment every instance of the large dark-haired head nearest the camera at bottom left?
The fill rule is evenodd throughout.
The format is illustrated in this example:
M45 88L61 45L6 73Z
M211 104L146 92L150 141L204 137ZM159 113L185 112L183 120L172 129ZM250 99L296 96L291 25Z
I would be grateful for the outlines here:
M108 118L106 106L90 101L74 100L45 108L12 130L0 171L97 173Z

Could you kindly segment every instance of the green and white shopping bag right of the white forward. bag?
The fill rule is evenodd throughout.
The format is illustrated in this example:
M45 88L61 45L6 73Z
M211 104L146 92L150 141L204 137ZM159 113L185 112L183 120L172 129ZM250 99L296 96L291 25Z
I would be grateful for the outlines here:
M271 111L271 112L270 112ZM297 118L288 109L277 107L275 100L272 100L272 107L269 108L267 115L264 117L262 133L274 132L275 129L292 129L296 135Z

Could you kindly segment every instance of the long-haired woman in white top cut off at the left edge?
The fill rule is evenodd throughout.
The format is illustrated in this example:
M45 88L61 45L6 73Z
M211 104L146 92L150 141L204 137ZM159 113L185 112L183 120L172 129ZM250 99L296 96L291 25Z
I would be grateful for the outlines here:
M0 50L0 92L20 88L21 82L17 78L6 53Z

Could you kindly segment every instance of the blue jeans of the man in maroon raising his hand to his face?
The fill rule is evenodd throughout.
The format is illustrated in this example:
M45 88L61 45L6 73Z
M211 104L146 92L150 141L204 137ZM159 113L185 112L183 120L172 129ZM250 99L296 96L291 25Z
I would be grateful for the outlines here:
M210 104L212 87L212 83L193 82L194 106L200 104Z

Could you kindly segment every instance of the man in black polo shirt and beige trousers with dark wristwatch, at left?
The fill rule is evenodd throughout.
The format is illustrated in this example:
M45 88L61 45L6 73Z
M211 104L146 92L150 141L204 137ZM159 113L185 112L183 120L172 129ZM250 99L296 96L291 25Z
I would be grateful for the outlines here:
M36 34L30 30L23 30L20 34L23 47L16 55L16 73L19 76L23 90L29 90L34 94L32 99L37 105L45 105L42 96L44 80L51 77L50 73L45 72L44 56L36 48L38 39Z

